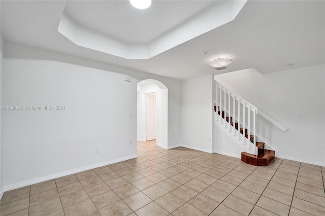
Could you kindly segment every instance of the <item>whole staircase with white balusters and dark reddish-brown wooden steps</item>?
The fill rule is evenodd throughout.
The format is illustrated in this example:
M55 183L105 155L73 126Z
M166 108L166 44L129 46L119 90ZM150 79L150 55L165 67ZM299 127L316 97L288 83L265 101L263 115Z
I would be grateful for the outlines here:
M257 107L218 82L215 92L215 122L246 151L241 153L241 160L255 166L269 165L275 151L265 149L265 142L256 140Z

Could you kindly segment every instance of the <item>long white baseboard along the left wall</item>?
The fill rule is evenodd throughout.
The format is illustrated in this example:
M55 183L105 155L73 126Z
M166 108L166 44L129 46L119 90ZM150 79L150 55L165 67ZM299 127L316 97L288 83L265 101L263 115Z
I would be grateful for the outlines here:
M118 163L121 161L125 161L125 160L129 160L129 159L134 159L138 157L137 155L131 155L131 156L127 156L127 157L123 157L123 158L118 158L118 159L114 159L114 160L110 160L110 161L105 161L102 163L98 163L98 164L93 164L93 165L89 165L89 166L84 166L84 167L80 167L80 168L76 168L76 169L72 169L72 170L68 170L68 171L64 171L64 172L59 172L59 173L55 173L55 174L51 174L51 175L46 175L43 177L38 177L38 178L34 178L34 179L29 179L27 181L23 181L23 182L19 182L19 183L15 183L15 184L11 184L11 185L7 185L4 186L2 191L11 191L17 188L22 188L25 186L29 186L29 185L34 185L40 182L45 182L54 178L58 178L58 177L62 177L62 176L66 176L66 175L71 175L71 174L75 174L78 172L82 172L82 171L86 171L88 169L94 169L94 168L98 168L101 166L106 166L109 164L113 164L113 163Z

